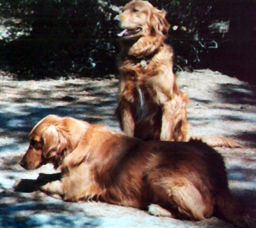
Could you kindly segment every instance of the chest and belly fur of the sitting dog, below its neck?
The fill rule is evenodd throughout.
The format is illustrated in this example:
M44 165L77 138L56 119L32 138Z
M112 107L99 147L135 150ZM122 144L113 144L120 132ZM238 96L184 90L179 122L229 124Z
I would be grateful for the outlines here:
M134 136L159 140L162 108L175 83L172 48L163 44L140 57L128 52L129 49L122 49L119 59L121 102L129 105L135 122Z

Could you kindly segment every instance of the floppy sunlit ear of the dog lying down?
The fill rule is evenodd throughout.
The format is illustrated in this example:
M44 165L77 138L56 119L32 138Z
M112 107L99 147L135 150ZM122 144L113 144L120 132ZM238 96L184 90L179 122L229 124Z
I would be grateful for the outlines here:
M69 134L57 125L50 125L42 134L43 138L43 158L54 164L57 168L62 164L65 153L72 148L72 141Z

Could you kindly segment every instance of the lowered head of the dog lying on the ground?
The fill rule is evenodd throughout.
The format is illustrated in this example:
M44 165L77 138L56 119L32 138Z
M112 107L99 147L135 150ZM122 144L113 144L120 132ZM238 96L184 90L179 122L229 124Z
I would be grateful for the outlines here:
M52 163L57 168L65 155L76 147L81 131L77 125L80 122L56 115L43 118L30 133L30 145L20 165L25 169L37 169Z

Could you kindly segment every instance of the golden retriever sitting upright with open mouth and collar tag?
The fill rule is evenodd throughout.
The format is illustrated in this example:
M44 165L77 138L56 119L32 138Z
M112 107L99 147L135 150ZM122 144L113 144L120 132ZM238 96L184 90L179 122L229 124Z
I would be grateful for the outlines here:
M115 17L121 32L121 129L143 140L188 141L188 97L172 72L173 51L164 43L170 24L166 12L147 1L131 1ZM199 138L199 137L197 137ZM200 138L208 145L241 147L225 137Z

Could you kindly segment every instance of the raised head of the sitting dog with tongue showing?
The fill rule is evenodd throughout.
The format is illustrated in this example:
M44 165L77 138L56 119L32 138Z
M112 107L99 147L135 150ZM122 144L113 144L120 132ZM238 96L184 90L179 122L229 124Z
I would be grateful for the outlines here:
M167 35L170 24L165 15L164 10L158 10L147 1L132 0L114 19L122 30L118 36L136 39L147 35Z

